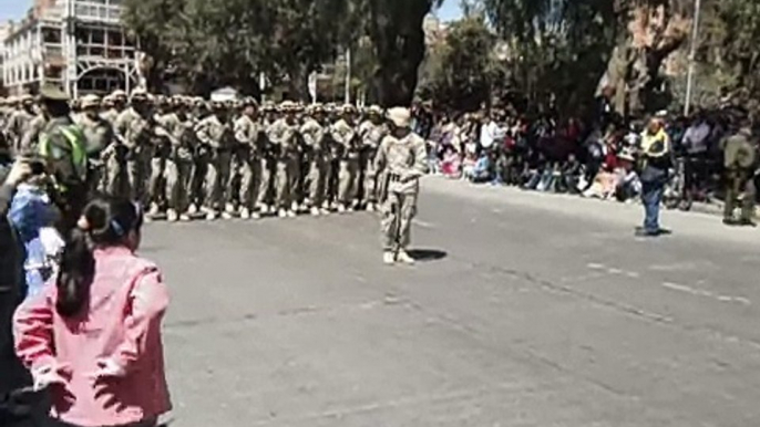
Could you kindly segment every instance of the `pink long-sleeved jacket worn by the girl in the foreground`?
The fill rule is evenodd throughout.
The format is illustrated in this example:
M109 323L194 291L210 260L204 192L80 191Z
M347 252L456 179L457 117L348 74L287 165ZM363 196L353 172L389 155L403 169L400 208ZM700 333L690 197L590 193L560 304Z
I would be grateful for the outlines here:
M161 321L168 294L155 264L126 248L95 250L86 310L71 319L55 310L57 288L25 301L14 319L16 350L32 371L53 367L51 415L80 426L152 420L171 409ZM117 367L95 379L99 361Z

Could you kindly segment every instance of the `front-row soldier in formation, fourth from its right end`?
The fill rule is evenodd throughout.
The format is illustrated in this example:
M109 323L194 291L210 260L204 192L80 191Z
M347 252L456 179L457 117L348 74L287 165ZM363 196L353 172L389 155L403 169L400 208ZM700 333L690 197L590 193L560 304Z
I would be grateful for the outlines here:
M269 143L275 147L275 206L280 218L296 217L297 210L300 128L296 110L294 102L284 102L280 105L283 117L267 129Z

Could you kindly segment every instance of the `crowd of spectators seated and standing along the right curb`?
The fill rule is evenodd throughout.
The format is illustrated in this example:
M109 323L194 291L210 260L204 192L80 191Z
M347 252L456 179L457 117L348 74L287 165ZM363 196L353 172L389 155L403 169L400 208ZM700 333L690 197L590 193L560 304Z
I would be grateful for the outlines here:
M501 110L443 113L420 107L417 116L434 174L623 202L641 192L643 137L665 132L671 147L669 199L675 200L669 207L682 209L720 196L721 144L735 131L729 111L700 111L688 118L663 112L627 123L598 121L603 124L551 115L528 118Z

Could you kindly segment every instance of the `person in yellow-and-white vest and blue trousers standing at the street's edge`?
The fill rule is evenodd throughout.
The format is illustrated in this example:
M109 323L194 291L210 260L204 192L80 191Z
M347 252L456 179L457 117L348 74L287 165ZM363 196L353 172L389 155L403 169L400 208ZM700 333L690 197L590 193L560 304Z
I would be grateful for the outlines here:
M636 236L657 237L663 233L659 210L670 165L670 138L660 118L653 118L641 135L641 200L645 219L644 227L636 229Z

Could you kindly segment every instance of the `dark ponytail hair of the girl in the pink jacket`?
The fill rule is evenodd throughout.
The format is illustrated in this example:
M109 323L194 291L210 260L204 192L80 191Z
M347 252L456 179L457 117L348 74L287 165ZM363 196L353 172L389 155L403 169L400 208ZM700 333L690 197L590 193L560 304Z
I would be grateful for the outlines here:
M140 231L142 222L140 207L125 199L97 198L84 208L78 227L65 238L55 279L55 310L60 315L75 315L90 296L90 285L95 275L93 250L124 244L131 231Z

